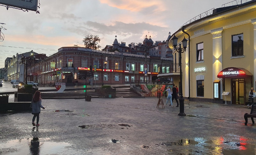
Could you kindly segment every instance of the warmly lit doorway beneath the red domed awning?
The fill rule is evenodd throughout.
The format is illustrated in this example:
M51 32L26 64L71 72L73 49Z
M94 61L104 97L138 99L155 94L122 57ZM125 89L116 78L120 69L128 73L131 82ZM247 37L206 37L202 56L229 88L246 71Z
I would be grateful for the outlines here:
M245 103L245 79L232 79L232 104Z

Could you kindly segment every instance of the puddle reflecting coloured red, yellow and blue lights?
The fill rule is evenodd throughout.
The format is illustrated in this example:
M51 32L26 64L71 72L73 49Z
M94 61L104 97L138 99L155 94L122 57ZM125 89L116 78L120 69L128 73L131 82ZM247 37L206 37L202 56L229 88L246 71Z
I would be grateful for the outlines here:
M242 136L226 134L223 137L213 137L212 139L204 139L196 137L194 139L181 139L174 142L162 142L155 144L157 147L162 146L181 146L187 148L196 146L198 150L207 150L211 154L223 155L255 155L256 145L249 144L248 139ZM192 147L193 148L193 147ZM190 150L191 153L200 153L198 150ZM170 150L172 151L172 150Z

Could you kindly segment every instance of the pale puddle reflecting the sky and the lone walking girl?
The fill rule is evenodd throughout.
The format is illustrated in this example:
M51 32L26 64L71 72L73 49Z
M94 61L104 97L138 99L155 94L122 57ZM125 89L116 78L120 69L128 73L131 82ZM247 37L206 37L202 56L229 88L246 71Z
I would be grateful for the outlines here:
M65 142L46 141L46 139L34 137L30 139L7 141L5 144L1 144L0 154L57 155L78 153L78 150L72 149L71 146L71 144Z

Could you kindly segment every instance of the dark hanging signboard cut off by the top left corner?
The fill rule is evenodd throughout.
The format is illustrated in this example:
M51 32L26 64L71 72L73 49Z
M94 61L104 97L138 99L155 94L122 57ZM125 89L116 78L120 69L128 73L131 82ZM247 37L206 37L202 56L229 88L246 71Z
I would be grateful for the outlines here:
M0 4L37 11L38 0L0 0Z

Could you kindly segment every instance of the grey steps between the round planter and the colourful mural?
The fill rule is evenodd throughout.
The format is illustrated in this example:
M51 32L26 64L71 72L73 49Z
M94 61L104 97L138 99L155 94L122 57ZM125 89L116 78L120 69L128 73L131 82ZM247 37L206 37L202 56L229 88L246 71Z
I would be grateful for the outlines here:
M144 96L130 90L130 87L123 87L116 88L116 98L144 98Z

